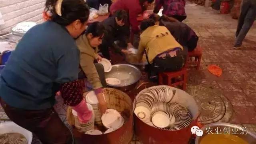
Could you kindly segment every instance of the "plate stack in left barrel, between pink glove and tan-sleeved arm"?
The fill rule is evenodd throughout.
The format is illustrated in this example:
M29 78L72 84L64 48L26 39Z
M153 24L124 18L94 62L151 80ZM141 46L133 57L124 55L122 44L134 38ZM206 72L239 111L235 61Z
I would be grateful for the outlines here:
M105 97L104 97L105 98ZM102 124L99 101L94 91L88 92L85 96L86 102L92 105L95 114L95 123Z

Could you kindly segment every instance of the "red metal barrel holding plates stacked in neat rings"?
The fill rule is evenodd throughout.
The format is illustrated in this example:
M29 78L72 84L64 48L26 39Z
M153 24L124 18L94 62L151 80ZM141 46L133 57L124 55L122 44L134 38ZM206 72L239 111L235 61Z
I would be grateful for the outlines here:
M173 88L173 87L172 87ZM188 144L192 136L191 127L196 126L199 116L198 106L192 96L183 90L176 89L178 92L178 103L188 108L193 117L191 124L177 131L162 130L149 126L134 114L134 130L137 138L142 144ZM134 100L134 107L135 107Z

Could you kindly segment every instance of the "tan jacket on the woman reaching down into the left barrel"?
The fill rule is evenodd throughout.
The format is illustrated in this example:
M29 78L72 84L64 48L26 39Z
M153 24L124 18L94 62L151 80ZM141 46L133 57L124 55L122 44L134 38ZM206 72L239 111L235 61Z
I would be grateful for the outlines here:
M87 80L92 84L94 90L102 88L100 76L94 65L98 48L92 48L85 34L76 39L76 44L80 50L80 66L86 74Z

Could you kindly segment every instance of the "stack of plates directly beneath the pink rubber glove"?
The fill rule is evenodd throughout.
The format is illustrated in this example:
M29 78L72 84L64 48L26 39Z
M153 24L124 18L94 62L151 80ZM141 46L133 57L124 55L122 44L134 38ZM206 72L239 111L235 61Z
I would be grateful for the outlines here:
M94 112L90 104L87 103L87 106L89 110L92 110L92 118L86 123L81 123L77 118L77 112L75 110L72 110L72 114L74 115L75 119L75 127L78 130L78 132L84 133L94 128Z

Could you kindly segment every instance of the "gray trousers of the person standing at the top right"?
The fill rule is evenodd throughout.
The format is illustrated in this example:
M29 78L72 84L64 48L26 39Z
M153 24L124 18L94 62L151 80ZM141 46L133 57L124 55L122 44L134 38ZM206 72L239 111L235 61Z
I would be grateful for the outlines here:
M243 0L241 14L236 30L236 43L234 46L241 46L256 18L256 0Z

